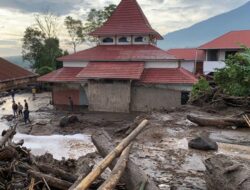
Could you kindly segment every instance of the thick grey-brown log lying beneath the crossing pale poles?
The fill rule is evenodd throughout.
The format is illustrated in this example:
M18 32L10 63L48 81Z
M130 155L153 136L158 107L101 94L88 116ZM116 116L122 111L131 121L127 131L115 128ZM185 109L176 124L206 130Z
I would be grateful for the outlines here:
M95 133L92 136L92 141L102 157L105 157L114 149L112 139L104 130ZM113 169L116 163L117 159L111 163L109 168ZM144 173L144 171L129 159L124 174L121 177L121 182L126 184L127 189L137 190L140 188L141 183L145 181L147 181L145 190L159 190L156 184Z

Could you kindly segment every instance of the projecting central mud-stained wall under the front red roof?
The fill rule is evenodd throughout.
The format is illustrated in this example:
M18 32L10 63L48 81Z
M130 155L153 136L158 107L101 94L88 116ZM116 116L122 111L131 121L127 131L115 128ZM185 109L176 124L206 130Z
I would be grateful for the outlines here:
M130 81L94 81L88 83L90 111L129 112Z

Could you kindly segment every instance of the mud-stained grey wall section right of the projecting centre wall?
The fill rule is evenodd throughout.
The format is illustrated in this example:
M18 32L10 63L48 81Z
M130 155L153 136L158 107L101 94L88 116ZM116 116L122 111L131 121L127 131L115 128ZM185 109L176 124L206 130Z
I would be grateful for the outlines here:
M131 111L151 111L181 105L181 91L155 86L133 86Z

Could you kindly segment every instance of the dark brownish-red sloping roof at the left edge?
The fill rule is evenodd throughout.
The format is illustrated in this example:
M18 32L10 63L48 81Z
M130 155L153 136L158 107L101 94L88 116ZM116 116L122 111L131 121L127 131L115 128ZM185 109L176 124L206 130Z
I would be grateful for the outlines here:
M0 82L34 76L36 76L35 73L10 63L9 61L0 57Z

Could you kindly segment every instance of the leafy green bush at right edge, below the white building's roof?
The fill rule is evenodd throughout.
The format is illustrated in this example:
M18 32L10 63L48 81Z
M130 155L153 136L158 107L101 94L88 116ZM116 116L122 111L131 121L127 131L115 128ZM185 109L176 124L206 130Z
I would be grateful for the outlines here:
M217 69L214 76L223 93L250 96L250 49L231 55L226 60L226 67Z

